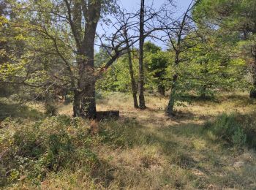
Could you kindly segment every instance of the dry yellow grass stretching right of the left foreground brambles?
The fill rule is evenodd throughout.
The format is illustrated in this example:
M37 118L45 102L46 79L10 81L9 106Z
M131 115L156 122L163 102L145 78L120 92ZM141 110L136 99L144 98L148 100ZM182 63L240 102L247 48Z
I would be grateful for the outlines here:
M97 150L113 167L108 189L256 189L255 151L227 148L211 132L202 133L202 123L220 113L252 113L255 102L247 94L222 94L215 102L197 100L176 107L176 118L164 114L167 101L146 96L146 110L135 110L127 94L108 94L98 101L98 110L121 112L118 123L102 127L125 127L124 144L130 138L133 143ZM70 113L67 110L61 112Z

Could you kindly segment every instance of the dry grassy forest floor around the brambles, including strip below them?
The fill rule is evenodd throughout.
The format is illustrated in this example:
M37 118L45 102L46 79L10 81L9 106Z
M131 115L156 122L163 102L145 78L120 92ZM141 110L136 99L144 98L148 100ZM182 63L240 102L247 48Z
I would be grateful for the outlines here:
M120 110L118 121L102 121L92 150L99 159L90 174L69 169L48 172L41 189L256 189L256 153L253 148L233 148L205 131L208 121L222 113L255 114L256 101L247 94L222 94L215 100L192 99L176 107L175 118L164 114L167 97L146 96L147 109L135 110L127 94L108 94L97 101L97 110ZM42 106L29 120L39 119ZM0 106L5 110L17 105ZM31 109L31 108L29 108ZM12 117L20 117L15 111ZM59 105L59 114L71 115L71 105ZM2 114L3 115L3 114ZM255 126L256 127L256 126ZM101 140L105 129L112 135ZM97 143L97 142L99 143ZM33 189L30 183L12 188Z

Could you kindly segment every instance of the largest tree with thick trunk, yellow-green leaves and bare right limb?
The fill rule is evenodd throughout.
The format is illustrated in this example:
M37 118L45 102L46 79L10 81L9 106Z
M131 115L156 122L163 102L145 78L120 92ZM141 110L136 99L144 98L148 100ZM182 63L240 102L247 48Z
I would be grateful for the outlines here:
M64 3L51 0L37 3L12 1L11 4L15 14L20 15L18 20L15 20L15 28L22 28L23 33L28 34L32 40L37 38L34 42L38 47L31 48L28 52L35 55L43 51L50 52L58 58L58 66L50 66L48 68L52 69L48 71L44 68L38 69L37 76L41 75L38 78L35 77L35 72L29 71L32 66L26 63L26 66L23 66L25 70L20 70L20 74L26 72L26 75L24 74L18 83L45 89L49 89L53 84L61 88L65 86L74 95L73 115L95 118L96 80L127 48L124 47L124 40L117 39L121 37L122 32L118 28L112 38L111 44L114 47L110 47L108 61L102 66L94 65L96 29L103 15L115 12L115 0L64 0ZM29 40L32 41L31 39ZM51 63L49 58L37 58L37 61L34 61L31 56L27 56L26 60L29 58L31 64L39 61L40 65L45 65L43 62L47 61L49 66ZM32 75L38 80L31 80Z

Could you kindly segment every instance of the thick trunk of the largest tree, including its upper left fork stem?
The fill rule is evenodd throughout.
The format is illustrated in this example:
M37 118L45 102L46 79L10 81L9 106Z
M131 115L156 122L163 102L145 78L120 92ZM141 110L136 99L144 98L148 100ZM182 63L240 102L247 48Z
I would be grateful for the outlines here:
M79 1L78 1L79 3ZM75 21L77 30L73 30L78 48L78 90L74 97L74 115L86 118L96 118L96 101L95 101L95 73L94 73L94 40L97 24L99 22L102 1L89 1L86 7L83 7L83 14L86 20L84 28L84 37L81 38L80 32L80 15ZM78 7L79 4L78 4ZM80 9L80 8L79 8ZM75 9L76 10L76 9ZM79 109L78 109L79 107Z

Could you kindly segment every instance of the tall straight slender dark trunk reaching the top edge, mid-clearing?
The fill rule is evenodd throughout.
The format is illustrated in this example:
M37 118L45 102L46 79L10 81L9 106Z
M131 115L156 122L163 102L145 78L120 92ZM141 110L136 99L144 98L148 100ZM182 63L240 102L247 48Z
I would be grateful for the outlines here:
M140 109L146 109L144 97L144 69L143 69L143 47L144 47L144 6L145 1L140 1L140 58L139 58L139 102Z

